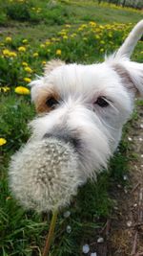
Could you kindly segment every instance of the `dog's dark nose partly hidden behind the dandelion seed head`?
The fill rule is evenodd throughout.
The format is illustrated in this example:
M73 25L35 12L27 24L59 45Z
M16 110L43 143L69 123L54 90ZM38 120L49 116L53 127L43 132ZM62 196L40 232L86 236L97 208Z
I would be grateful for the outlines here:
M71 135L67 134L67 133L55 133L55 134L52 134L52 133L46 133L44 135L44 138L56 138L60 141L64 141L66 143L71 143L73 148L78 148L79 147L79 139L78 138L74 138L72 137Z

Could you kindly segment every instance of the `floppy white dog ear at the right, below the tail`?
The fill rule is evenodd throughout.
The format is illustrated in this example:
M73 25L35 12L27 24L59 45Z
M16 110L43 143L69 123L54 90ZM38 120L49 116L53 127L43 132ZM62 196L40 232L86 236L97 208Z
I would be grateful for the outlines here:
M123 84L130 90L143 95L143 64L124 60L112 62L112 68L120 76Z

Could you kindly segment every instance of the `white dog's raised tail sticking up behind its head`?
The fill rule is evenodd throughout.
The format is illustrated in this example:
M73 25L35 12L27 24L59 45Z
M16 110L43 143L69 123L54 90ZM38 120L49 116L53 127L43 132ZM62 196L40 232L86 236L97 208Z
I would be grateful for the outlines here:
M121 58L121 57L127 57L130 58L133 49L137 43L137 41L141 38L143 35L143 19L139 21L136 26L133 28L133 31L128 35L124 43L121 45L121 47L116 52L115 57Z

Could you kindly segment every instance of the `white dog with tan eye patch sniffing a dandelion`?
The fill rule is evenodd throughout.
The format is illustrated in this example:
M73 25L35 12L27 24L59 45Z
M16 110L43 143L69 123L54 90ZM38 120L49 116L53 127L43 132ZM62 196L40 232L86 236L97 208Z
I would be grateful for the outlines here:
M51 60L44 77L31 82L31 100L42 113L31 122L32 139L71 143L85 180L107 166L133 112L134 96L143 94L143 64L130 60L142 33L143 20L103 63Z

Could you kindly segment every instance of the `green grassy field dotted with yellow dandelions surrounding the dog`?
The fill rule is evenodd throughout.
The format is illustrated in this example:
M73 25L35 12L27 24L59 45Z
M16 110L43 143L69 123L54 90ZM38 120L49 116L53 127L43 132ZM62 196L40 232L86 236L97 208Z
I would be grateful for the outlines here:
M29 82L35 74L42 74L51 58L84 63L103 60L143 15L113 5L98 6L95 1L13 0L0 4L0 255L36 256L41 255L51 214L25 211L8 187L10 156L27 142L27 124L35 115ZM133 59L141 62L142 58L143 42L139 41ZM124 175L128 173L130 142L126 133L131 123L109 171L99 175L96 183L89 181L60 212L52 256L82 255L83 244L92 244L93 234L112 215L112 183L129 186ZM67 211L70 216L65 218Z

